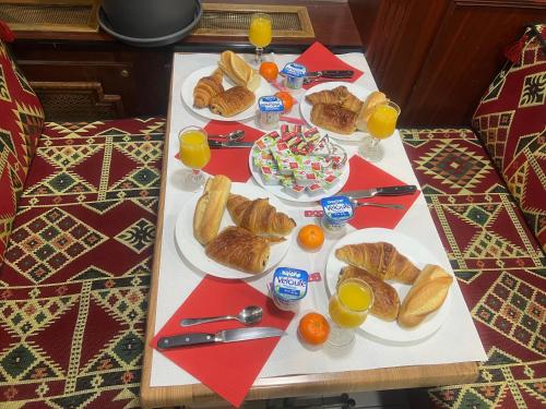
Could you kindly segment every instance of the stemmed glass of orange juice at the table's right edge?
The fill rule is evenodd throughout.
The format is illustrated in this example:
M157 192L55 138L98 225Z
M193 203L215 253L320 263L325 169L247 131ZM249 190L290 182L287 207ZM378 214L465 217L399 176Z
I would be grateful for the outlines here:
M371 137L365 140L359 153L369 161L380 161L384 157L384 149L379 144L394 133L396 121L400 116L400 107L392 100L379 104L373 107L368 119L368 133Z

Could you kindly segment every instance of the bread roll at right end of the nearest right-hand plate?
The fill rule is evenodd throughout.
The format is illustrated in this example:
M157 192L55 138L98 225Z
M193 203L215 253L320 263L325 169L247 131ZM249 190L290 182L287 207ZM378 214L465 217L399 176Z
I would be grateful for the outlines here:
M397 322L403 327L419 325L425 317L442 306L453 277L442 267L427 264L402 301Z

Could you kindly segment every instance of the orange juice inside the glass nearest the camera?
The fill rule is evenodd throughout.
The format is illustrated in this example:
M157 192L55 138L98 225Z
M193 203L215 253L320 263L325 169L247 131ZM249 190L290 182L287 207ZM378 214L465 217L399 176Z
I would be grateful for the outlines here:
M348 279L340 285L337 293L330 299L330 316L341 327L357 327L366 320L372 300L373 294L366 282Z

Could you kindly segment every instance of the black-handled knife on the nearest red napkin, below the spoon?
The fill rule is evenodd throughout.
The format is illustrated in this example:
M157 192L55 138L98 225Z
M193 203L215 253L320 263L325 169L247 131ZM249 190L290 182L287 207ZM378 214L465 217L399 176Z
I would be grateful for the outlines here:
M179 334L170 337L159 338L159 340L157 341L157 348L170 349L177 347L187 347L191 345L238 342L251 339L282 337L284 335L286 335L284 330L268 326L224 329L217 332L216 334L187 333L187 334Z

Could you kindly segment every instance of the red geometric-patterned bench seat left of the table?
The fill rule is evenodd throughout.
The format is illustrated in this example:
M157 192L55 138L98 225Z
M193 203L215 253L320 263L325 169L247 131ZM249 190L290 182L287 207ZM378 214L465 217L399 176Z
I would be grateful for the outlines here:
M46 122L0 269L0 400L139 406L163 127Z

